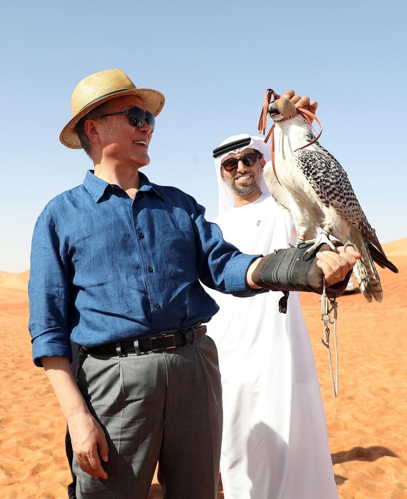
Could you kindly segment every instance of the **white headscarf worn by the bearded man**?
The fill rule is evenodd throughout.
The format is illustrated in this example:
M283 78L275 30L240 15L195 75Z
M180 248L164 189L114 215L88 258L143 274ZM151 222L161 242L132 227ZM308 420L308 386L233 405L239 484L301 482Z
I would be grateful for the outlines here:
M231 151L227 151L218 156L217 158L215 158L216 177L218 179L218 187L219 187L218 215L228 210L229 208L235 206L235 198L233 197L232 191L230 190L230 187L226 184L226 182L223 182L222 177L220 176L220 165L223 158L225 158L230 153L237 154L243 151L244 149L251 148L261 152L261 154L263 154L264 156L264 159L266 160L266 163L267 161L271 160L270 146L264 143L263 138L252 137L247 133L241 133L240 135L232 135L231 137L226 138L226 140L224 140L219 145L219 147L229 144L231 142L242 140L244 138L250 138L250 142L245 146L238 147L237 149L233 149ZM260 189L261 192L263 193L269 192L266 182L264 181L263 174L261 174Z

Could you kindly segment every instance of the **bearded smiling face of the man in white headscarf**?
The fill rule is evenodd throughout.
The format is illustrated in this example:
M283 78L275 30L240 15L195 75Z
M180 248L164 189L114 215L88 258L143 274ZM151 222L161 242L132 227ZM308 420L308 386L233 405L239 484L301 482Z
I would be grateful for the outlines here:
M244 154L249 152L254 152L255 154L257 153L255 149L247 148L237 154L228 154L222 159L222 163L229 158L239 159ZM247 167L242 161L239 161L237 170L227 172L223 167L221 167L220 175L222 180L227 183L234 194L237 196L246 196L259 188L261 171L263 170L264 164L264 159L260 159L258 157L252 167Z

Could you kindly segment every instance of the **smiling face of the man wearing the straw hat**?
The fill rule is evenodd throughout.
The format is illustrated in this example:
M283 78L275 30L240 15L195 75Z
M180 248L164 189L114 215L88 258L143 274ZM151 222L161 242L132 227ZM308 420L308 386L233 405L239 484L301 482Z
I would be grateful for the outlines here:
M143 101L134 95L117 97L108 102L103 114L115 113L137 106L146 109ZM104 159L126 164L135 168L150 163L148 155L152 138L150 125L145 121L141 127L132 126L127 114L107 116L98 120L97 127Z

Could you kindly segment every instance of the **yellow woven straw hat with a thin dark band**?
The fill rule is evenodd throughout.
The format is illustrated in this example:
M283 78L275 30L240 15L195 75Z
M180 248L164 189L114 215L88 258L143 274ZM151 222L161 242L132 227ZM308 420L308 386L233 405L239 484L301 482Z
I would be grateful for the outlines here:
M165 99L161 92L138 89L121 69L107 69L83 78L72 93L72 120L64 127L60 141L71 149L81 149L75 127L78 121L98 105L122 95L140 97L154 116L163 108Z

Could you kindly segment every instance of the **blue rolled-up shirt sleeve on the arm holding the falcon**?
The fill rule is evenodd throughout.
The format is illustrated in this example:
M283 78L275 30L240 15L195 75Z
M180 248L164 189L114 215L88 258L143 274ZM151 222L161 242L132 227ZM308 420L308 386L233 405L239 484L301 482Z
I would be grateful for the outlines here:
M199 279L205 286L239 297L267 291L250 289L246 281L250 264L263 255L243 254L226 242L219 226L205 219L205 208L199 204L196 204L194 227Z

